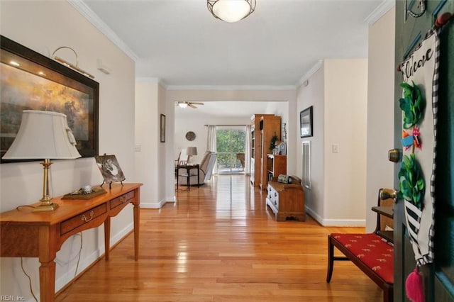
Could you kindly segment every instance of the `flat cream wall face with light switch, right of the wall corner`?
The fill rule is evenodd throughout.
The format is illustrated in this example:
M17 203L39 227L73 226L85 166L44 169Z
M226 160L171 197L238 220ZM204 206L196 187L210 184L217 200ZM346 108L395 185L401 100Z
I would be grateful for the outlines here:
M365 225L367 59L325 60L324 67L323 224Z

